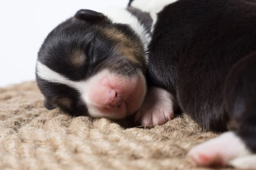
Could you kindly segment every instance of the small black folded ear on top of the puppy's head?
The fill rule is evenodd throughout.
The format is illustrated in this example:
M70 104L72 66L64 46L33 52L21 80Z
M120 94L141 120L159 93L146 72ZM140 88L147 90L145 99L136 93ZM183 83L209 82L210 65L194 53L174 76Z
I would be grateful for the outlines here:
M107 20L107 17L104 14L90 9L80 9L76 12L75 17L80 20L86 20L93 23Z

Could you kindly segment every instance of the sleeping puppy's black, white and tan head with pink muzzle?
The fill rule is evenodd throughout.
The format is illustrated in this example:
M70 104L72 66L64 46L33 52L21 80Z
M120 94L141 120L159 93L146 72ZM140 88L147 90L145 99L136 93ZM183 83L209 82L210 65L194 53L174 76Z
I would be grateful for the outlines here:
M143 44L128 25L83 9L44 40L36 80L48 109L121 119L143 102L145 69Z

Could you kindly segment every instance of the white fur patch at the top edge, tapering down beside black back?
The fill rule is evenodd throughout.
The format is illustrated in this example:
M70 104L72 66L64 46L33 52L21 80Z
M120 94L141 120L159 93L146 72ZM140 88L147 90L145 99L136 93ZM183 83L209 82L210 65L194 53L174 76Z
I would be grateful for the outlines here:
M154 31L154 25L157 22L157 13L163 10L163 8L171 3L175 3L177 0L134 0L131 6L138 8L144 12L148 12L152 19L151 32Z

